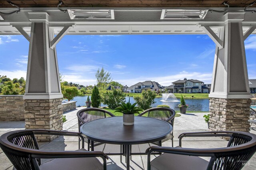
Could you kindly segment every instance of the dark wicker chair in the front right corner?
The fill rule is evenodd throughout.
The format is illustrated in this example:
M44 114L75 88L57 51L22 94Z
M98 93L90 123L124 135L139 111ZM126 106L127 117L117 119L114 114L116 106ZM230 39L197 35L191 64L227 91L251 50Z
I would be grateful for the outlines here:
M214 149L182 148L183 137L230 137L227 147ZM148 170L241 170L256 151L256 135L236 131L182 133L179 147L150 147ZM150 162L152 152L162 152ZM207 161L200 157L210 157Z

